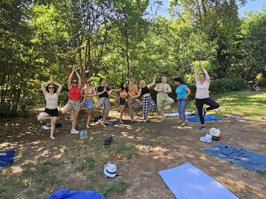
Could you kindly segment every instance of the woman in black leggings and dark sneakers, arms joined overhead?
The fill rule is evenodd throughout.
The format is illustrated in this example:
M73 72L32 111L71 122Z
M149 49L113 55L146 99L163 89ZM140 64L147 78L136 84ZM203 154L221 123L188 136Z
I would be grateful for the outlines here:
M198 77L199 68L202 68L204 73L201 73ZM196 91L196 107L198 109L200 120L201 120L201 127L200 130L205 129L204 124L204 116L207 111L219 108L219 104L215 102L209 96L209 86L210 86L210 76L206 69L202 66L201 61L195 72L195 83L197 87ZM203 104L209 105L208 108L204 109Z

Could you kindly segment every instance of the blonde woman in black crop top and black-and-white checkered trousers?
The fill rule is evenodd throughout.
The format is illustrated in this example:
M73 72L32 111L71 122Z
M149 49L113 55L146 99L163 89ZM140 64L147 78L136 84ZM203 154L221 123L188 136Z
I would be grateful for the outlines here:
M152 100L151 95L150 95L150 87L152 87L155 84L155 79L156 79L156 74L153 75L153 81L152 83L148 84L146 86L146 83L144 80L141 80L139 82L140 89L138 91L138 95L132 96L131 98L139 97L140 94L143 95L142 97L142 111L143 111L143 119L144 122L148 121L148 110L152 111L154 110L155 107L155 102Z

